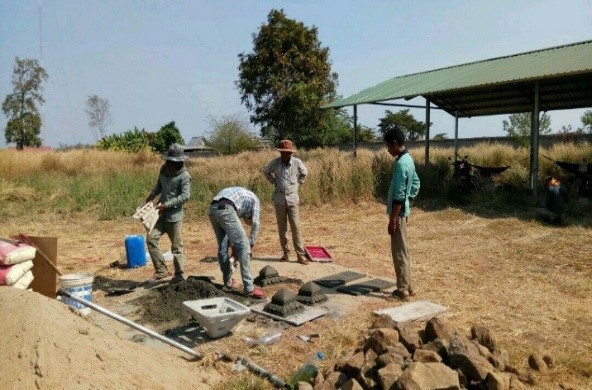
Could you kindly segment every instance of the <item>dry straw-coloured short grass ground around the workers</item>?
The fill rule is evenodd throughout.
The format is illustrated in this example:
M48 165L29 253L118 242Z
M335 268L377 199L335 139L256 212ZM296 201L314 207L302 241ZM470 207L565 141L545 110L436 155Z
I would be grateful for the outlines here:
M301 211L307 244L329 249L335 262L371 276L394 277L386 233L384 205L305 206ZM555 367L535 373L537 389L592 388L592 216L568 219L555 227L534 219L534 210L514 214L463 209L422 210L414 208L409 221L409 239L414 261L417 297L447 306L450 321L469 333L471 325L488 327L498 343L510 353L515 366L528 367L529 354L550 354ZM142 234L131 218L100 221L88 213L20 215L0 225L0 236L24 232L58 237L58 265L65 272L88 271L111 278L141 280L151 267L126 273L109 264L125 259L126 234ZM192 215L184 225L188 275L215 270L216 245L205 216ZM163 240L166 246L166 240ZM275 219L265 206L255 256L279 257ZM318 274L320 264L307 266ZM352 298L355 299L355 298ZM109 305L97 296L97 301ZM287 378L316 350L327 354L331 364L354 346L372 321L377 308L399 305L392 299L376 299L356 314L321 318L284 332L282 343L249 347L233 338L205 345L251 357L260 365ZM116 311L116 307L110 307ZM319 332L315 345L297 341L296 334ZM208 355L210 356L210 355ZM229 378L217 388L259 388L269 385L245 372L226 375L230 365L204 359Z

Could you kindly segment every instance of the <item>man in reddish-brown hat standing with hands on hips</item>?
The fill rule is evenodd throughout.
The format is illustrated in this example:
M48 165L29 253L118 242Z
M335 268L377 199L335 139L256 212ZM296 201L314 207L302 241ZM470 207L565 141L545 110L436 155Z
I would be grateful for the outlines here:
M308 255L304 250L302 236L300 235L300 198L298 189L305 182L308 170L302 160L293 156L296 147L292 141L288 139L280 141L277 150L280 152L280 157L271 160L263 168L263 174L270 183L275 185L273 204L280 245L283 251L281 260L290 260L290 249L288 248L289 222L298 262L307 264Z

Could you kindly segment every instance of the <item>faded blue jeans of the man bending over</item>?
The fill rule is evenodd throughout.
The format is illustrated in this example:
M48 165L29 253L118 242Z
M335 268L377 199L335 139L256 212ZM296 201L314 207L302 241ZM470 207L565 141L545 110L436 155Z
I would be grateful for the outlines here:
M251 246L236 210L231 205L213 204L210 206L208 215L218 242L218 262L224 285L228 286L232 278L232 268L228 258L228 241L230 240L236 251L236 259L240 264L244 291L250 293L254 287L249 264Z

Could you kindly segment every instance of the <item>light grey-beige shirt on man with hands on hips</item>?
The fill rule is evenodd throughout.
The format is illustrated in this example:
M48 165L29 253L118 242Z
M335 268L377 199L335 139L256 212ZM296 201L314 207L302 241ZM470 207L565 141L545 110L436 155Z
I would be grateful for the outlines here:
M292 156L290 162L284 164L281 157L274 158L263 168L263 174L271 184L275 185L274 203L287 206L300 203L298 188L308 175L302 160Z

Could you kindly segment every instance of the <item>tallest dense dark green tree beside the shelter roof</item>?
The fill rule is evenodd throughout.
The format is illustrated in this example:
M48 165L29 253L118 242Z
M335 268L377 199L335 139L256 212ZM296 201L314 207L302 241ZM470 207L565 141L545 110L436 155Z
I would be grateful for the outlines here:
M329 49L321 47L317 28L274 9L252 37L253 51L238 55L236 81L251 122L274 141L324 145L331 114L320 106L335 96L337 74L331 72Z

